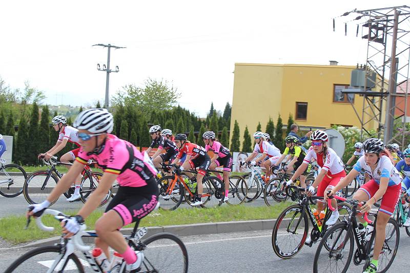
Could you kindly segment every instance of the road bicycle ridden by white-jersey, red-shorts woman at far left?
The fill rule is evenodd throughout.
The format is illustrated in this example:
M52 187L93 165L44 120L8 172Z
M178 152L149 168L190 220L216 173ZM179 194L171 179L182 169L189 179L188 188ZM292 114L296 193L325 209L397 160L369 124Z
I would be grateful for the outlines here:
M63 174L56 169L56 166L72 165L71 163L63 163L56 160L56 156L51 157L49 160L45 160L45 158L43 158L43 162L48 166L47 170L33 172L29 177L27 177L23 187L23 194L28 203L41 203L51 193L55 185L57 185L59 179L63 177ZM88 164L93 164L93 162L90 161ZM85 165L81 175L83 175L83 177L81 178L80 199L83 203L85 203L88 196L98 187L99 180L103 174L100 172L93 172L90 166ZM107 195L105 195L103 200L101 200L99 206L103 206L110 200L111 192L112 188L110 188ZM65 192L64 196L69 198L72 194L74 194L73 187ZM54 200L50 206L56 201L57 200Z

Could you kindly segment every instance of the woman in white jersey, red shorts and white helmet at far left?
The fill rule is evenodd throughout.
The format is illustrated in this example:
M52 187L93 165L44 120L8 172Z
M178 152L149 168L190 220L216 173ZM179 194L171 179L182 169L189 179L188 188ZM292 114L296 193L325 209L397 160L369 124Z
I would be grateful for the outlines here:
M60 157L60 161L63 163L70 163L75 160L75 157L77 157L77 154L80 150L80 145L78 144L78 129L71 127L67 125L67 119L64 116L55 116L52 120L51 123L53 124L54 130L58 131L58 140L57 143L47 152L45 153L40 153L38 155L38 158L44 157L46 160L49 160L50 157L52 157L54 154L58 153L59 151L63 150L67 142L73 143L76 145L78 148L71 150L63 156ZM71 166L70 165L65 165L68 170L70 170ZM75 188L74 188L74 194L71 195L71 197L67 198L67 201L75 201L80 198L80 187L81 187L81 174L78 174L78 176L75 178Z

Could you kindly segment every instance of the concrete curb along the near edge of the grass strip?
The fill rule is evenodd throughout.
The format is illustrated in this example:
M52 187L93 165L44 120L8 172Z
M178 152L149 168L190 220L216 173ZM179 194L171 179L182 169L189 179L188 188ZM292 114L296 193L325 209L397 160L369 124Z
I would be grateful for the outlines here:
M283 219L284 221L288 219ZM165 225L165 226L150 226L147 227L148 233L144 236L148 238L157 233L169 232L177 236L192 236L205 234L220 234L232 232L246 232L259 230L272 230L276 219L265 220L248 220L248 221L231 221L231 222L211 222L198 224L181 224L181 225ZM122 229L120 232L124 235L130 235L133 228ZM38 240L35 242L22 244L14 247L0 248L0 251L12 248L22 247L38 247L45 245L52 245L60 241L60 236ZM93 237L83 238L85 243L94 242Z

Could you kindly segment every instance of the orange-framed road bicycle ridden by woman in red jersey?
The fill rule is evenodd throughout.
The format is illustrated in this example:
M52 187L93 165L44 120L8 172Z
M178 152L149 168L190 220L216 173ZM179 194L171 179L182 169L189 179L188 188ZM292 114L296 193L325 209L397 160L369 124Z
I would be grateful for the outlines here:
M192 185L196 183L196 180L193 180L193 177L189 180L189 185L183 179L183 174L179 171L178 167L175 164L162 164L163 166L172 167L172 174L163 176L158 180L158 189L159 189L159 198L161 198L160 208L163 210L173 211L179 207L182 202L183 197L188 204L194 202L196 196L196 187L193 188ZM193 173L196 174L196 171L184 170L183 173ZM224 198L224 184L216 176L204 176L202 179L203 192L202 192L202 205L204 207L207 204L207 207L216 207L220 206L220 201ZM185 176L185 175L184 175Z

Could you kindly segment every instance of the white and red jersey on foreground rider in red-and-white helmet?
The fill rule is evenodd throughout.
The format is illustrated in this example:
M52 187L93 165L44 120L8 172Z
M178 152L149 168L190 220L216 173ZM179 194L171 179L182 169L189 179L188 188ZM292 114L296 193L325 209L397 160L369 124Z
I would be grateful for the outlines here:
M330 172L331 174L336 174L344 169L344 164L340 157L336 154L336 152L330 148L327 147L327 154L325 160L323 160L323 154L318 154L316 153L312 147L309 148L308 153L306 153L306 156L303 159L304 164L309 164L312 161L312 158L315 158L317 164L323 169L326 170L327 172Z

